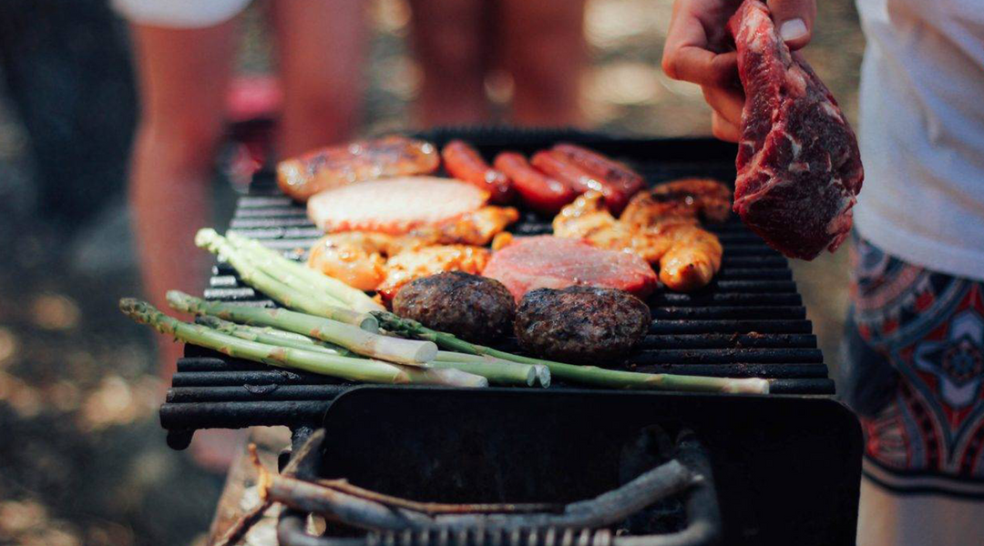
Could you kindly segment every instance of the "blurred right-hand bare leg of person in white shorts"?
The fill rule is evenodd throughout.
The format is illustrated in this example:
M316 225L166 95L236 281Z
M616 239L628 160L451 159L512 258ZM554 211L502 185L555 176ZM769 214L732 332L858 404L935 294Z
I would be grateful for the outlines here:
M364 4L361 0L272 3L284 94L278 151L284 156L355 133L363 91Z

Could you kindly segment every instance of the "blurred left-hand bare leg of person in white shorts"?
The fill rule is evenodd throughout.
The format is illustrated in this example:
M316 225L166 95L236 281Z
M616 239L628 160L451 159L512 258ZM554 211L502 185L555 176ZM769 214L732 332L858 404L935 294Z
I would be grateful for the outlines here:
M144 287L166 309L164 293L202 289L211 259L195 248L206 223L208 183L234 52L234 24L196 29L133 27L142 93L130 175ZM181 345L159 338L161 376L169 379Z

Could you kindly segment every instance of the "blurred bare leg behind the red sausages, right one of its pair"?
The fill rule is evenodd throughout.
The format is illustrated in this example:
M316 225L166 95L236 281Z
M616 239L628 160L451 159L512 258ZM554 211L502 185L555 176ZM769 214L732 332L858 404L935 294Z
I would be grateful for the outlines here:
M568 126L581 122L584 0L502 0L500 43L513 75L513 121Z

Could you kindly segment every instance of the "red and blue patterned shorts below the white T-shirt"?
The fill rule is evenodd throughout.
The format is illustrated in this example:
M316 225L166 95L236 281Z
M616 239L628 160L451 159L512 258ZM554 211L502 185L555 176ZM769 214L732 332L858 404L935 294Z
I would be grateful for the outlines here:
M842 392L864 427L865 475L984 499L984 283L852 243Z

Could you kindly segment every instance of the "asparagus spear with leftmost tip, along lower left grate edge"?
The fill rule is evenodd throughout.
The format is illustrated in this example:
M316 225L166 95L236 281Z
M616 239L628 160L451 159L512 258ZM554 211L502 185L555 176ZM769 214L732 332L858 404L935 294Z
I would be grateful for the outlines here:
M137 322L149 324L158 332L170 334L186 343L213 349L235 358L254 360L273 366L301 369L350 381L455 387L488 386L488 380L484 377L464 373L457 369L425 369L400 366L381 360L328 355L315 351L247 341L223 334L207 326L182 322L165 315L146 301L132 298L120 300L120 310Z

